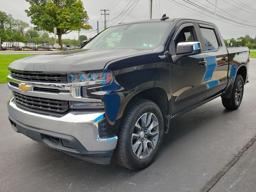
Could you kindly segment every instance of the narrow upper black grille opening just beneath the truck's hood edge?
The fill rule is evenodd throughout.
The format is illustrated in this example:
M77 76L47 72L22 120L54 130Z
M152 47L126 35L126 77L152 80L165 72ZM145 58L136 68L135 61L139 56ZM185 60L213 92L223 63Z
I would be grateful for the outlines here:
M62 74L36 74L36 73L19 73L10 72L10 76L17 80L33 81L33 82L52 82L66 83L67 76Z

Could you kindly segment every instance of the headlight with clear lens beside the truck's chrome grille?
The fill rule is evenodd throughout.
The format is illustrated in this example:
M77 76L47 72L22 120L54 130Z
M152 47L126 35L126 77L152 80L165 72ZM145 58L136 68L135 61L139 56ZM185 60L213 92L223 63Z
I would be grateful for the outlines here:
M87 72L80 74L69 74L68 82L72 83L83 83L88 82L88 84L107 84L113 78L113 74L109 70L98 71L98 72Z

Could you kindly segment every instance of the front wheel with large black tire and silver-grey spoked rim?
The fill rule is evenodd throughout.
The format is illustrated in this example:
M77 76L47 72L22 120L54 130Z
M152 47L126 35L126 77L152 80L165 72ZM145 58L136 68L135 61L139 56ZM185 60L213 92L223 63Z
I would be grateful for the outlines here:
M114 160L131 170L149 166L162 144L163 133L164 120L156 103L146 99L134 100L123 114Z

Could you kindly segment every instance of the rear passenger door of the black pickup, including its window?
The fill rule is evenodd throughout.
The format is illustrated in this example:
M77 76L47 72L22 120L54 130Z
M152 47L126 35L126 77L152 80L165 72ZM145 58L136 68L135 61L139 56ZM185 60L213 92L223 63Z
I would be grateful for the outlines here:
M228 82L228 52L223 47L223 41L218 35L218 29L214 25L197 24L200 32L202 53L207 56L206 75L207 82L206 100L220 94Z

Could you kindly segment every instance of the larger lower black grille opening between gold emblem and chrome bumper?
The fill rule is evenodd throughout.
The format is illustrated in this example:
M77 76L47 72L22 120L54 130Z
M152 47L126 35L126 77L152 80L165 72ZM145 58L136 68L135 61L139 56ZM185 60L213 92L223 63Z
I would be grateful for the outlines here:
M23 105L29 108L47 110L52 112L66 112L69 110L68 101L41 98L23 95L17 92L13 92L14 101L19 105Z

